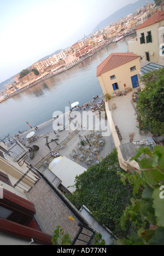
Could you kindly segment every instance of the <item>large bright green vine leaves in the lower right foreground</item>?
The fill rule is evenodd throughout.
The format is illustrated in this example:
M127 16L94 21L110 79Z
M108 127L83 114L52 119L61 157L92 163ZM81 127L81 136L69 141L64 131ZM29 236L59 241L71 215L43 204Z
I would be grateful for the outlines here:
M128 181L133 187L131 204L120 218L121 228L124 229L126 221L130 220L134 232L117 244L164 245L164 198L161 196L164 189L164 148L155 146L153 152L149 148L139 148L132 160L138 162L141 174L118 174L124 184Z

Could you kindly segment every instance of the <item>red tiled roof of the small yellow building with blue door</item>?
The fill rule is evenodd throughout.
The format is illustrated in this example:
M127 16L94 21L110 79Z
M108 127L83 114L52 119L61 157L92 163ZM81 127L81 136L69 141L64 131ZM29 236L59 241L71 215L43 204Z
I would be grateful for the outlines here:
M110 54L106 60L104 60L98 67L97 67L97 74L96 76L106 73L116 67L124 65L127 62L137 59L139 56L134 53L113 53Z

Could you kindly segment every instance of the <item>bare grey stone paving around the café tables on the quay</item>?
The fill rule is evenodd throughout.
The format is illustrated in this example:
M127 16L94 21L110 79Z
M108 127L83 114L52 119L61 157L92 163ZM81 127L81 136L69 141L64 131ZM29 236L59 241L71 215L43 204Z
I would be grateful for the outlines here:
M94 103L98 103L99 101L101 101L103 99L103 95L99 96L99 98L94 102ZM92 104L93 102L90 101L90 104ZM54 123L54 119L51 119L49 121L47 121L44 124L41 124L38 126L38 131L31 129L26 131L25 133L22 133L22 135L20 137L23 137L24 139L22 139L22 142L24 144L26 144L27 147L32 147L32 145L38 146L39 150L37 152L34 153L34 158L30 159L30 153L28 153L28 158L26 159L26 161L29 164L32 164L35 167L40 167L45 161L48 160L48 163L50 163L54 158L50 157L50 149L54 149L55 152L59 152L61 156L66 156L68 159L72 159L72 157L70 156L70 154L72 154L72 150L76 149L76 147L78 146L77 144L80 142L80 136L82 136L82 138L84 139L86 135L89 134L89 130L101 130L99 129L99 127L103 127L104 122L105 125L107 126L108 129L108 133L105 134L105 137L103 137L106 141L106 143L103 146L103 149L100 150L99 154L98 154L98 158L104 158L106 157L106 155L108 155L113 149L114 149L114 142L113 142L113 137L110 133L110 128L109 128L109 124L108 124L108 120L99 120L99 116L96 116L95 113L91 112L91 108L88 108L87 111L84 111L83 108L81 108L80 110L80 114L83 113L89 113L90 112L90 118L95 119L97 121L95 121L95 124L92 127L84 127L83 124L83 120L81 125L83 126L83 128L81 129L81 127L79 127L77 125L77 127L75 127L75 131L72 130L63 130L58 132L57 130L55 130L57 132L58 137L56 137L56 135L54 134L54 127L53 127L53 123ZM75 112L74 112L75 113ZM68 123L68 116L69 113L65 113L64 114L66 117L66 123ZM57 119L57 122L63 125L63 118L59 117ZM89 124L90 125L90 124ZM86 120L85 120L85 126L86 126ZM61 126L60 126L61 127ZM35 132L35 135L38 136L38 139L30 144L27 143L27 139L26 136L28 133L30 133L31 131ZM48 142L51 142L52 139L58 139L56 142L51 142L49 144L50 149L45 145L46 143L46 138L45 136L48 136ZM63 148L61 146L64 146ZM84 162L82 161L78 161L78 159L73 160L74 162L78 162L79 165L83 166L84 168L88 168L89 166L87 166Z

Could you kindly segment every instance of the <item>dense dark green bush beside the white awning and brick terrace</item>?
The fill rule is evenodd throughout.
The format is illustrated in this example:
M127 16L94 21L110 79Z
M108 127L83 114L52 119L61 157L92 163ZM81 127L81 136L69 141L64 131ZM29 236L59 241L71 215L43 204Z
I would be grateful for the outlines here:
M117 171L121 172L121 168L114 149L100 164L89 167L75 178L76 190L67 197L74 206L85 205L101 224L122 237L127 234L129 226L127 223L122 231L119 219L130 203L132 190L129 184L122 184Z

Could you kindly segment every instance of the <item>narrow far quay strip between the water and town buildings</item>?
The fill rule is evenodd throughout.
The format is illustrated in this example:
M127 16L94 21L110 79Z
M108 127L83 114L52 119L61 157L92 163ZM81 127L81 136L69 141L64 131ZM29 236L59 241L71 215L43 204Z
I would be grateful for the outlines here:
M135 33L136 33L136 32L135 32ZM134 34L134 33L127 34L127 35L124 36L124 38L127 37L127 36L131 36L132 34ZM61 74L61 73L65 72L65 71L67 71L67 70L73 68L74 66L78 65L80 62L83 62L83 61L86 60L87 58L89 58L89 57L93 56L94 54L96 54L99 50L103 49L104 47L106 47L106 46L108 46L109 44L112 44L112 43L113 43L113 41L108 42L107 44L103 45L101 48L97 49L95 52L90 53L88 56L85 56L83 59L81 59L81 60L79 60L78 62L74 63L72 66L67 67L66 69L64 69L64 70L62 70L62 71L60 71L60 72L57 72L56 74L50 74L50 75L48 75L48 76L46 76L46 77L40 79L39 81L34 82L34 83L31 84L31 85L27 85L25 88L22 88L22 89L20 89L19 91L15 92L14 94L8 96L7 98L4 98L3 100L1 100L1 101L0 101L0 104L1 104L2 102L4 102L4 101L8 100L9 98L14 97L15 95L20 94L20 92L25 91L25 90L27 90L27 89L29 89L29 88L32 88L33 86L39 84L40 82L45 81L46 79L49 79L49 78L51 78L51 77L55 77L56 75Z

